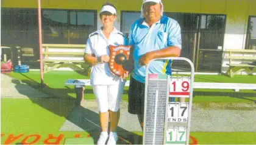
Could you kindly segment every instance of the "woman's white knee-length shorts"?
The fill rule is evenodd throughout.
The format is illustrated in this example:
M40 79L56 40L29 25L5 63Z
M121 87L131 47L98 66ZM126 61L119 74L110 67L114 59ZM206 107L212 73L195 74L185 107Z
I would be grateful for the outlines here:
M96 96L99 112L118 111L119 104L124 91L124 82L116 85L93 85L93 92Z

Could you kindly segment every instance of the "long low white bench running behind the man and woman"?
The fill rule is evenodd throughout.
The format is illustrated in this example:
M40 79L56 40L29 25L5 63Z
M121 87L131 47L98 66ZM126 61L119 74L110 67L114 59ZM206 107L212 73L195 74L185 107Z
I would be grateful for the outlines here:
M126 81L125 86L128 87L130 80ZM76 88L76 105L84 99L85 86L90 86L89 79L68 79L65 85L74 85ZM212 82L194 82L193 88L201 89L230 89L238 92L239 90L256 90L256 83L212 83Z

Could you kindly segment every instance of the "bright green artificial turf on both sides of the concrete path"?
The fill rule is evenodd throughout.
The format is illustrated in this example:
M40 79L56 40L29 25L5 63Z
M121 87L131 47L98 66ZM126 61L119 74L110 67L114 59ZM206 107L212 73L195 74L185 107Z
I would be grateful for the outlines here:
M9 75L34 88L38 88L40 83L40 71L11 72ZM69 113L74 108L74 97L76 97L74 86L65 86L64 83L67 79L90 79L90 77L74 71L51 71L44 74L44 83L47 83L48 87L46 90L41 91L52 95L53 98L2 98L1 144L21 144L24 141L32 143L37 135L38 141L35 144L45 144L47 141L54 143L56 139L48 140L51 135L61 137L59 144L63 144L65 138L74 138L77 135L88 137L88 132L59 131L63 122L66 121ZM194 82L256 83L256 76L234 76L230 78L221 75L195 75ZM122 98L124 101L127 100L127 88L124 88ZM193 103L200 103L205 107L209 102L218 104L252 103L252 101L256 101L254 93L255 90L240 90L240 93L235 93L233 90L194 89ZM54 97L59 99L54 99ZM91 86L85 87L84 98L95 99ZM233 108L224 109L233 110ZM239 109L247 110L248 108ZM125 133L123 134L126 136ZM142 132L135 132L135 134L141 135ZM256 140L256 132L191 132L190 135L196 138L197 144L255 144ZM131 137L124 138L129 142ZM127 144L127 141L119 140L118 143ZM192 142L190 140L190 143Z

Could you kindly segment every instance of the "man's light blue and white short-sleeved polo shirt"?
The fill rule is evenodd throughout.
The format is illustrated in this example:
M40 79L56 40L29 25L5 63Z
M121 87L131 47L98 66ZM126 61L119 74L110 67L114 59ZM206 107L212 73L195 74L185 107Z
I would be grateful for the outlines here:
M135 80L145 82L146 66L140 66L139 60L143 54L169 46L177 46L182 49L180 26L176 20L163 15L160 21L152 24L151 27L143 18L132 24L129 34L129 44L134 46L133 59L134 69L131 73ZM149 73L171 74L172 60L151 62Z

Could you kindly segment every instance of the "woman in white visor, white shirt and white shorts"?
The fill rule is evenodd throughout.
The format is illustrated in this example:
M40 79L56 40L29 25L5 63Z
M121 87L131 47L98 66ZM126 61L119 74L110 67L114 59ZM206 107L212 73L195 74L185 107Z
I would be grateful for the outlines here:
M110 120L110 134L107 144L116 144L120 111L119 103L123 94L126 80L121 80L110 71L108 60L110 51L108 46L127 45L124 35L115 29L113 23L116 20L116 8L113 4L102 5L101 29L89 35L85 48L85 62L93 65L91 68L91 85L96 96L99 108L99 121L101 123L101 136L97 144L105 144L108 138L108 118ZM109 116L109 117L108 117Z

